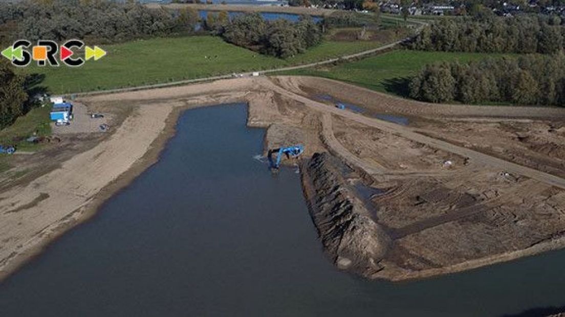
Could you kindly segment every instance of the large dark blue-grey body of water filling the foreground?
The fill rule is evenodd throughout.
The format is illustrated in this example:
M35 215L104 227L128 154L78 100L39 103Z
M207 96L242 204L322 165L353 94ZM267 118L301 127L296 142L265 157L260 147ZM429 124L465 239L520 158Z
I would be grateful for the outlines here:
M184 112L157 164L0 284L0 316L534 316L565 305L565 252L399 284L336 270L299 175L273 177L253 159L264 131L245 120L244 104Z

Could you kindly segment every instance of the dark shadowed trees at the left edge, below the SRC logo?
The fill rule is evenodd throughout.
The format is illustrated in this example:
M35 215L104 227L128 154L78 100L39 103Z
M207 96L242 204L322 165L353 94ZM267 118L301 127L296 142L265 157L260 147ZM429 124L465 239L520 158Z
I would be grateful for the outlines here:
M6 59L0 60L0 129L11 125L26 110L25 77L14 72Z

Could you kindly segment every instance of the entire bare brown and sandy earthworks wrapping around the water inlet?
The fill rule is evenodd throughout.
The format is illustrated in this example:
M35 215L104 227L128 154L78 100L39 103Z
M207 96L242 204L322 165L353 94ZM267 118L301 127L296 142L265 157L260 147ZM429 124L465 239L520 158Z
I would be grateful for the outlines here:
M368 116L317 102L319 94L365 107ZM85 125L62 134L0 174L0 278L153 164L182 109L232 102L249 103L247 125L267 129L266 150L302 143L305 164L331 153L303 166L303 182L324 247L341 268L421 278L565 245L563 109L423 104L307 77L78 102L107 114L111 130L89 133ZM373 112L409 116L410 125ZM15 177L19 171L26 176Z

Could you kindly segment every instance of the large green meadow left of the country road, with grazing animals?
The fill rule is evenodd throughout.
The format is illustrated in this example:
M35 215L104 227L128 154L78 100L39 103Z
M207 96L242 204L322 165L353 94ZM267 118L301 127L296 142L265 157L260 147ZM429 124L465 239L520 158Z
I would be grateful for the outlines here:
M380 45L325 41L283 60L231 45L219 37L153 38L102 46L108 52L103 59L79 68L32 67L27 71L44 74L41 85L50 93L80 93L303 64Z

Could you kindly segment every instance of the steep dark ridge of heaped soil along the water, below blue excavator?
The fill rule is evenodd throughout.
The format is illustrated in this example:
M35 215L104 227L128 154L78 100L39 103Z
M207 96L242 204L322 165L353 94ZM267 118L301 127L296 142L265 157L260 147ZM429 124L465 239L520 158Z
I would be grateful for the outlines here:
M303 186L321 243L342 269L372 276L390 244L383 228L346 185L335 158L315 153L303 171Z

